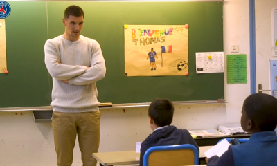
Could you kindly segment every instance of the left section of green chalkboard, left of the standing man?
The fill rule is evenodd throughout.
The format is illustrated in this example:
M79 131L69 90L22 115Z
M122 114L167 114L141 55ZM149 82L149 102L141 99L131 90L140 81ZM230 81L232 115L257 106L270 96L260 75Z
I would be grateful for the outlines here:
M0 107L38 107L51 102L44 64L47 39L45 1L8 1L6 18L8 75L0 73Z

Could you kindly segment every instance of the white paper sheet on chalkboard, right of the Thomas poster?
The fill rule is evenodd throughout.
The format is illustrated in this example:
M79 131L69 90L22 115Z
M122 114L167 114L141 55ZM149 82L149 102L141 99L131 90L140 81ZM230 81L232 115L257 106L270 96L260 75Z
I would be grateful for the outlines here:
M197 74L224 72L223 52L195 53L195 56Z

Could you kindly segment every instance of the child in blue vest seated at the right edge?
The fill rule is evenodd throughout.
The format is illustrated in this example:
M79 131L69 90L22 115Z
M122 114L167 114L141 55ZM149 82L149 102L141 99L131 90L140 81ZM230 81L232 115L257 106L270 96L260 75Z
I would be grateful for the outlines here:
M231 145L220 158L206 158L207 166L277 165L277 99L262 93L247 97L240 124L252 134L249 141Z

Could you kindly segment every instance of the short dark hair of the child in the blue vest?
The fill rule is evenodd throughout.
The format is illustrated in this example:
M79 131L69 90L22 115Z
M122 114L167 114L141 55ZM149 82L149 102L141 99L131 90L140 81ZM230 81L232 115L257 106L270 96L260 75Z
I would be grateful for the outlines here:
M260 131L274 131L277 124L277 99L264 93L249 95L243 109Z

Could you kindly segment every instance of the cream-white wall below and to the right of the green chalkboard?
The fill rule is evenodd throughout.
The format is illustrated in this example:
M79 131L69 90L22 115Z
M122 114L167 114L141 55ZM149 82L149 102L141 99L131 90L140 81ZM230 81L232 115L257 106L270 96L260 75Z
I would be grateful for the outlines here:
M274 1L274 0L272 0ZM247 54L249 66L249 1L224 1L224 53L238 44L240 53ZM226 75L225 75L226 77ZM247 84L226 84L228 104L202 104L175 107L173 124L184 129L216 129L218 124L240 122L242 102L250 94L249 67ZM146 107L101 109L99 151L134 150L136 141L143 141L151 130ZM32 112L0 112L0 165L55 165L55 149L51 124L35 124ZM73 166L81 166L78 144Z

